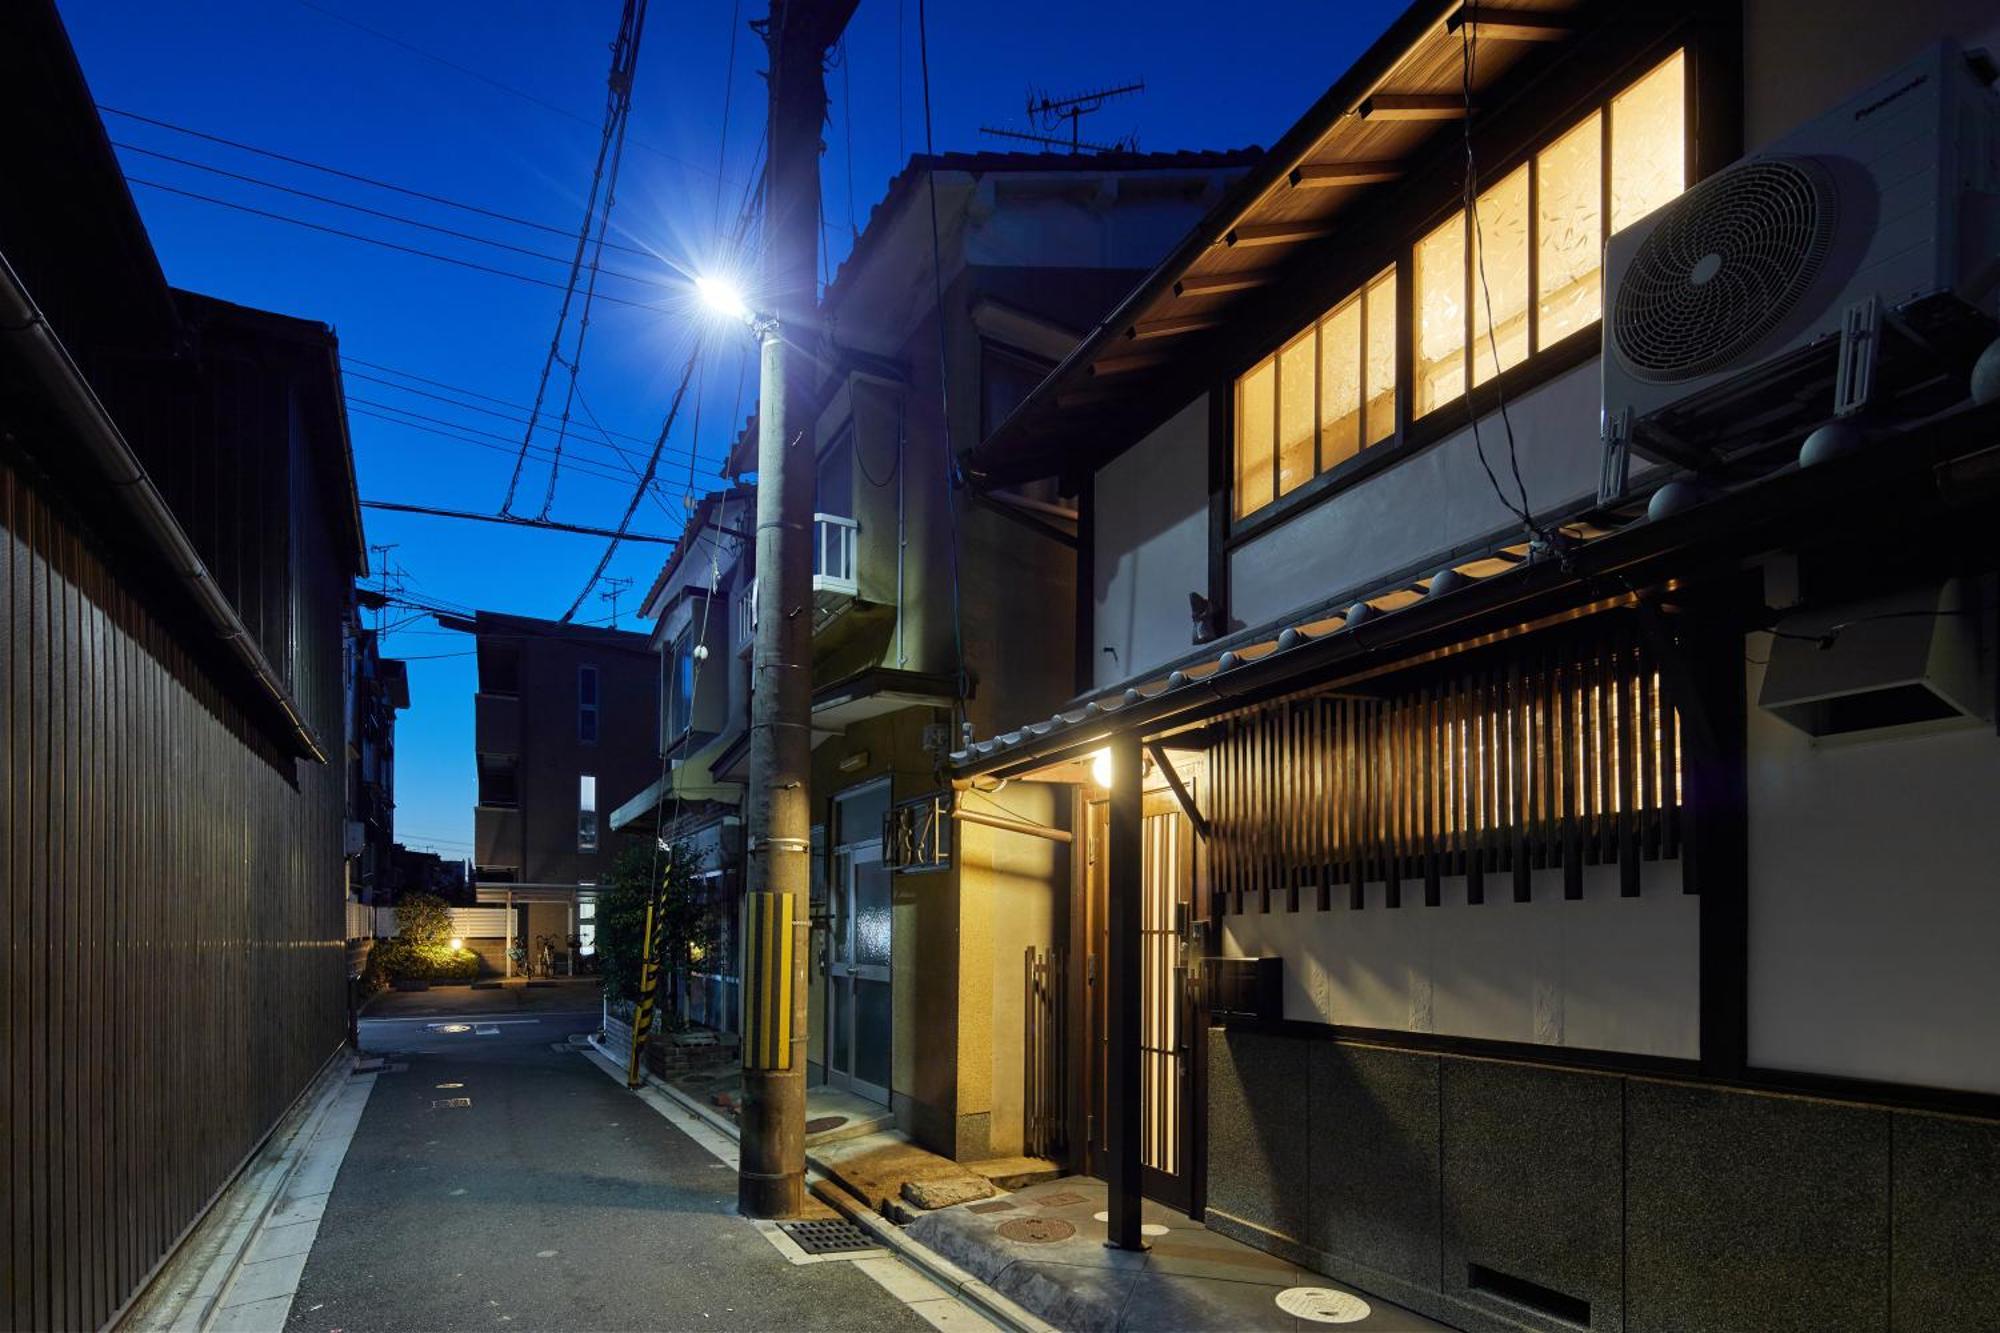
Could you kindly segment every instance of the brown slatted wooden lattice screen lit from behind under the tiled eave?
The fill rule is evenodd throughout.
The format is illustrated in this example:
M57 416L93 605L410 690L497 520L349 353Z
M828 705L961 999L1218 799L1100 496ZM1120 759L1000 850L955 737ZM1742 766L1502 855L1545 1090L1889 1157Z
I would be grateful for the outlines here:
M1218 723L1210 749L1214 909L1332 905L1346 887L1406 881L1442 903L1446 877L1482 903L1486 875L1528 901L1532 871L1680 855L1680 719L1626 614L1498 644L1386 685L1294 699Z

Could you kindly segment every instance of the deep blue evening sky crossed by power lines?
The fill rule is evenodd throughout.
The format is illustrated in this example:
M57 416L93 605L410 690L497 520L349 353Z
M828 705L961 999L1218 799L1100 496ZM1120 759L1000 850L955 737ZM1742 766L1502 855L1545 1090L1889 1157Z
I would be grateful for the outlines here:
M198 6L62 0L70 38L102 104L570 230L590 182L618 8L618 0L206 0ZM1022 100L1030 86L1062 96L1134 78L1146 80L1146 92L1086 122L1090 134L1136 132L1146 150L1270 144L1398 10L1400 4L1386 0L1266 0L1240 14L1180 0L938 0L930 6L936 146L1004 148L978 128L1028 128ZM738 20L762 12L762 0L746 0ZM764 86L756 76L764 66L762 44L738 28L724 144L730 34L732 4L724 0L652 2L612 222L620 242L658 258L618 252L608 256L608 266L674 284L676 268L698 268L716 252L718 156L728 176L722 202L728 218L750 174L764 118ZM850 212L866 222L904 156L924 144L916 0L862 0L848 30L846 68L830 74L828 88L824 212L838 264ZM574 246L556 234L384 194L120 116L106 116L106 126L126 144L530 250L568 254ZM418 232L158 158L128 152L124 162L132 176L544 280L560 282L566 272L556 262ZM134 196L174 284L326 320L340 332L348 358L508 402L534 396L560 302L556 290L142 186L134 186ZM656 290L628 280L608 278L600 290L652 302L686 300L684 288ZM692 312L596 308L580 384L606 428L648 440L658 432L696 326ZM752 368L738 400L742 350L724 338L704 356L700 436L690 412L668 442L662 466L668 498L642 504L634 528L678 530L690 442L698 458L696 490L714 478L732 410L740 420L756 392ZM482 416L360 376L400 378L350 360L350 398L518 438L520 424L502 416ZM560 384L552 392L560 392ZM512 470L508 444L452 442L362 414L378 408L354 406L356 468L366 498L472 510L500 506ZM630 440L620 444L644 450ZM602 440L586 442L576 456L606 474L564 470L550 514L614 524L630 496L630 476L606 454ZM642 458L644 452L634 454ZM546 480L546 464L530 462L516 510L540 510ZM604 546L596 538L380 510L368 510L366 524L370 542L396 546L390 558L408 570L412 592L540 616L556 616L570 604ZM628 628L640 628L630 612L662 554L660 546L626 546L612 564L612 574L632 580L618 604ZM600 620L610 606L592 596L578 614ZM410 658L412 683L412 709L402 715L398 733L398 833L416 847L470 855L474 673L466 638L420 618L398 628L386 646Z

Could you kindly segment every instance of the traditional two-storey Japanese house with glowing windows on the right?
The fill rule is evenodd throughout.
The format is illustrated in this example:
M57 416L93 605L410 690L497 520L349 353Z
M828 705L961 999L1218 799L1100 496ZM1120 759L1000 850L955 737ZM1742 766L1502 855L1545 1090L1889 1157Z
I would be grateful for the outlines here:
M1114 1243L1990 1317L1996 38L1414 4L970 450L1080 514L1074 699L952 763L1072 805Z

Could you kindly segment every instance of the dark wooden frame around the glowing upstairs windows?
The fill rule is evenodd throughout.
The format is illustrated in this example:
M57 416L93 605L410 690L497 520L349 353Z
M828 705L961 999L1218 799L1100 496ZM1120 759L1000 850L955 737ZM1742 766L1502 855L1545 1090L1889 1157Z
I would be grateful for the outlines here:
M1632 88L1648 72L1666 62L1674 52L1682 52L1682 162L1684 188L1694 188L1720 164L1734 160L1740 148L1740 116L1732 116L1734 102L1728 96L1730 52L1712 36L1704 36L1696 20L1684 18L1622 46L1616 56L1602 64L1602 72L1578 78L1570 88L1550 92L1544 98L1534 94L1550 82L1562 82L1560 74L1546 74L1516 94L1512 88L1498 90L1504 110L1492 122L1474 128L1474 150L1480 154L1482 192L1506 180L1514 170L1528 166L1528 208L1534 218L1538 206L1538 182L1534 172L1536 156L1574 130L1592 114L1602 114L1600 160L1600 208L1604 234L1610 236L1610 146L1612 118L1610 104ZM1704 82L1706 80L1706 82ZM1720 114L1718 114L1720 106ZM1416 406L1416 246L1428 238L1454 212L1464 212L1460 188L1460 164L1464 148L1458 136L1432 146L1430 152L1406 174L1408 194L1400 206L1390 206L1380 220L1368 224L1364 236L1356 236L1332 262L1318 266L1306 278L1308 294L1288 302L1284 314L1270 306L1258 312L1260 336L1254 342L1236 344L1236 356L1226 364L1226 374L1210 384L1212 408L1212 570L1220 568L1226 578L1228 554L1276 526L1290 522L1300 512L1320 504L1348 486L1396 466L1412 454L1438 440L1466 428L1468 410L1478 418L1490 416L1498 402L1514 400L1520 394L1560 378L1586 364L1602 352L1602 316L1582 328L1564 334L1548 346L1532 350L1522 362L1508 366L1484 380L1468 384L1464 392L1438 404L1422 416L1414 416ZM1412 202L1416 200L1416 202ZM1466 238L1470 270L1472 240ZM1538 326L1536 266L1538 246L1530 232L1530 286L1528 304L1532 312L1530 346ZM1238 380L1266 358L1276 356L1302 330L1314 328L1348 294L1366 292L1374 276L1394 264L1396 272L1396 402L1394 430L1378 444L1364 444L1354 456L1332 468L1306 478L1286 494L1276 492L1276 458L1272 460L1272 498L1248 514L1236 514L1236 394ZM1468 278L1470 282L1470 278ZM1470 286L1466 288L1470 296ZM1472 322L1472 300L1466 300L1466 320ZM1322 308L1324 306L1324 308ZM1468 366L1472 356L1466 356ZM1468 374L1470 378L1470 374ZM1274 402L1276 410L1276 402ZM1274 440L1276 450L1276 440ZM1220 490L1218 490L1220 488ZM1216 588L1210 590L1212 596Z

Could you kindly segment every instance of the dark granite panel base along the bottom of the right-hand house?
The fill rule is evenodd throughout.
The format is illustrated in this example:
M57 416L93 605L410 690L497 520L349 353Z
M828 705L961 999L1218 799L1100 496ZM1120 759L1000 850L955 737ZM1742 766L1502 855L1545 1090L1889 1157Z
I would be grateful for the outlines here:
M1208 1077L1212 1227L1464 1329L2000 1329L1994 1123L1222 1029Z

